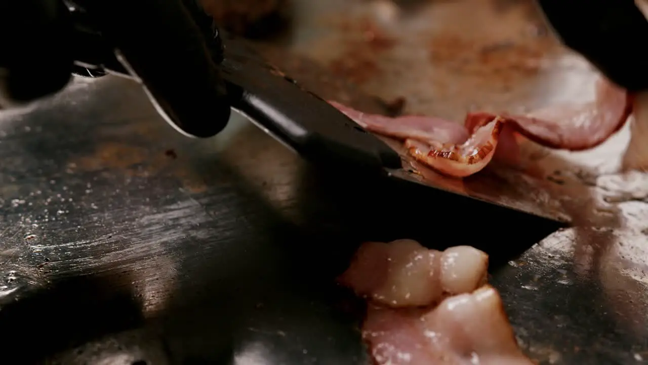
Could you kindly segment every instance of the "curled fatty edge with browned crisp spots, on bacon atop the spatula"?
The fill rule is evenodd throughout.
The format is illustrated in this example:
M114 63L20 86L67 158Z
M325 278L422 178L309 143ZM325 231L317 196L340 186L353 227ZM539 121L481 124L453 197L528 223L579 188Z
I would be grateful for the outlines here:
M503 128L503 119L494 116L476 129L463 144L442 144L405 140L410 155L445 175L467 177L481 171L491 162Z

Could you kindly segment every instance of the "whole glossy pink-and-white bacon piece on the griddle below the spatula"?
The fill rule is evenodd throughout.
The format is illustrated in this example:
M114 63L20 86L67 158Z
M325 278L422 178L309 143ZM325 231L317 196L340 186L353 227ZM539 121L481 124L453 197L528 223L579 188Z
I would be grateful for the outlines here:
M369 299L362 336L376 365L531 365L497 291L488 256L414 240L365 242L338 281ZM481 288L480 288L481 286Z

